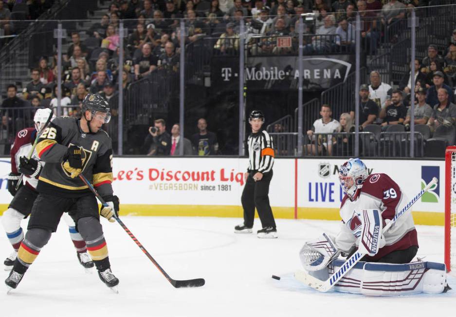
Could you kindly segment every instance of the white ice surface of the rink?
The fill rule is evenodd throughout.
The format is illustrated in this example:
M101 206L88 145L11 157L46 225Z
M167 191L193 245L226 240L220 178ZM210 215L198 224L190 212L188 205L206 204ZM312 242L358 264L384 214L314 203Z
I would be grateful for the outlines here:
M277 219L278 239L234 234L242 222L211 217L122 217L173 279L204 278L198 288L176 289L117 223L102 220L119 294L87 274L61 221L18 288L0 285L0 316L455 316L454 290L438 295L373 298L319 293L294 280L307 239L336 234L338 221ZM259 230L255 220L255 230ZM26 224L22 226L26 228ZM443 227L417 226L419 257L443 261ZM256 232L256 231L255 231ZM1 261L11 252L2 232ZM8 272L2 271L2 279ZM281 277L280 281L271 275Z

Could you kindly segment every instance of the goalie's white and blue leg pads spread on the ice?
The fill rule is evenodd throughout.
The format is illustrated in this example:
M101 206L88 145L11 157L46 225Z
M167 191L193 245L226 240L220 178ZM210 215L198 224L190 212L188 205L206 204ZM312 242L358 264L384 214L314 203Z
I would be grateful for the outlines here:
M343 264L341 260L333 261L328 266L328 273L332 274ZM334 290L369 296L398 296L442 293L446 285L444 264L359 262L334 286Z

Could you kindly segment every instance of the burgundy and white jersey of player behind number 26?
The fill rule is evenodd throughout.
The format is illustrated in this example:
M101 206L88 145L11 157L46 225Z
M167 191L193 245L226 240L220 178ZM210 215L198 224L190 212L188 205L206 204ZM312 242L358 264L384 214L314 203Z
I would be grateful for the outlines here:
M18 134L16 134L16 138L14 139L13 147L11 148L11 171L13 173L18 174L19 168L19 157L25 156L28 157L30 150L32 150L33 142L35 142L36 137L36 129L35 128L25 128L20 130ZM33 158L38 159L36 156L36 151L33 152ZM43 164L40 162L40 164ZM33 189L36 188L38 184L38 178L30 178L27 176L23 176L22 181L25 185L32 187Z

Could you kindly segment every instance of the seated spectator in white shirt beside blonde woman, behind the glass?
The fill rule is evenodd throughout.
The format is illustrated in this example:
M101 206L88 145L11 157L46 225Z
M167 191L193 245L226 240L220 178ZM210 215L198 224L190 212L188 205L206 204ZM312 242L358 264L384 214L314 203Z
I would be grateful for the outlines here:
M340 124L339 121L331 118L332 111L328 104L323 104L321 106L320 116L320 119L313 122L312 129L307 131L307 135L309 136L311 142L311 144L307 145L307 151L311 151L312 155L316 155L317 150L318 154L326 151L328 155L331 155L332 135L330 133L336 132L339 129ZM328 134L319 134L318 137L315 137L313 133Z

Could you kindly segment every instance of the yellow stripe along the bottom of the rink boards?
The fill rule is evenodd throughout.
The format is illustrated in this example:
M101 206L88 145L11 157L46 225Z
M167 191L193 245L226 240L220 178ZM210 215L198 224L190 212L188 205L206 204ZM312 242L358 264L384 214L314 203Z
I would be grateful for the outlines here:
M0 204L6 210L7 204ZM272 207L274 217L293 219L293 207ZM2 212L0 212L1 215ZM414 211L417 225L443 226L444 213ZM242 206L121 204L121 216L242 217ZM298 219L340 220L337 208L298 208Z

